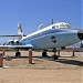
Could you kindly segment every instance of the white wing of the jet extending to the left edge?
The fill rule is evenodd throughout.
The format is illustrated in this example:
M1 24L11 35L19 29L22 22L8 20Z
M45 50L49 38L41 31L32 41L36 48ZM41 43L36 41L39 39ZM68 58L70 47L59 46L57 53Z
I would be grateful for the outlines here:
M11 50L11 49L32 49L32 44L25 45L0 45L0 50Z

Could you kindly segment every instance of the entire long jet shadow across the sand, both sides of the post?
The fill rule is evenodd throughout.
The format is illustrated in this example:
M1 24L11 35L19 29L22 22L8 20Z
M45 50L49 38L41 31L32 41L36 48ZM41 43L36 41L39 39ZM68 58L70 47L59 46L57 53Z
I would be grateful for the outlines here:
M10 56L11 59L28 59L29 56ZM54 62L60 62L60 63L64 63L64 64L72 64L72 65L79 65L79 66L83 66L83 62L82 61L77 61L77 60L69 60L69 59L59 59L59 60L54 60L52 56L32 56L32 58L37 58L37 59L43 59L43 60L48 60L48 61L54 61ZM3 58L6 59L6 58Z

